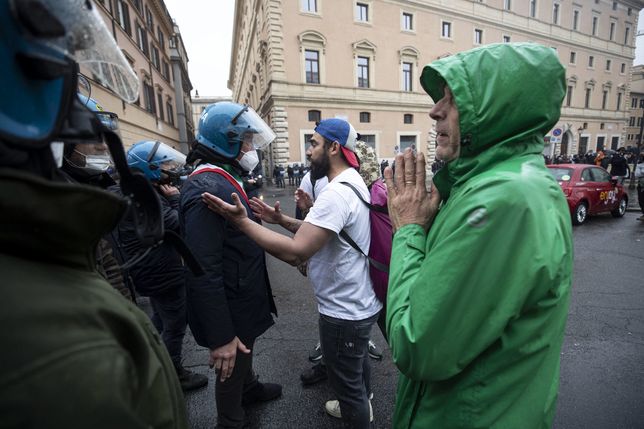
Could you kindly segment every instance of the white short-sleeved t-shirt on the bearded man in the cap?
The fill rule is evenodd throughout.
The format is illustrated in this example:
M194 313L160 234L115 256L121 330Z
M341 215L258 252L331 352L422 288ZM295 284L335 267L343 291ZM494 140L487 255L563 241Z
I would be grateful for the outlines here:
M304 222L336 234L311 257L308 275L321 314L343 320L362 320L378 313L382 304L373 292L369 260L338 233L344 229L366 254L371 239L369 209L351 188L340 182L351 183L362 198L369 201L369 191L353 168L344 170L316 195L315 204Z

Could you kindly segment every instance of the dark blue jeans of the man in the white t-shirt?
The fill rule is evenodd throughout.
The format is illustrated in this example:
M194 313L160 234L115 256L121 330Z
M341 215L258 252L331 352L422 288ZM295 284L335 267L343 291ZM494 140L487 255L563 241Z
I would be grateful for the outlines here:
M369 334L378 314L363 320L343 320L320 314L320 343L329 384L340 401L342 421L352 428L369 428L371 391Z

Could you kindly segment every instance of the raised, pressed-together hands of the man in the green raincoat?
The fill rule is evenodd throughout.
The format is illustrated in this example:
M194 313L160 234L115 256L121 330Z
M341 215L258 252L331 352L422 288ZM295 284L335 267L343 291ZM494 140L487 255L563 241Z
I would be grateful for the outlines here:
M396 156L396 174L385 168L389 217L394 231L409 224L429 230L441 202L440 194L432 183L431 192L425 187L425 155L415 157L411 149Z

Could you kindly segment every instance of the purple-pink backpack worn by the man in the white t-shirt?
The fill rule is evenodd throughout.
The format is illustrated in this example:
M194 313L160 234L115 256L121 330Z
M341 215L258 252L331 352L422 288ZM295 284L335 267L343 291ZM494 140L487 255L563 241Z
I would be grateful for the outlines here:
M362 199L358 190L348 182L340 182L348 186L360 198L360 201L369 208L369 220L371 223L371 244L369 254L358 247L355 241L346 233L340 231L340 236L354 249L369 258L369 276L373 283L373 291L380 302L387 300L387 285L389 283L389 261L391 259L392 227L387 210L387 188L381 179L371 184L369 193L371 204Z

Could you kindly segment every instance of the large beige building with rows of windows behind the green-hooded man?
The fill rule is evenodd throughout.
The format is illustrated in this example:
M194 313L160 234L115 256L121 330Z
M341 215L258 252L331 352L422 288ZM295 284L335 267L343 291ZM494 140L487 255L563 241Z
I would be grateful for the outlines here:
M425 64L490 43L556 49L568 93L545 154L625 144L637 17L644 1L236 0L228 87L267 120L272 163L304 162L320 118L348 119L391 159L433 158Z

